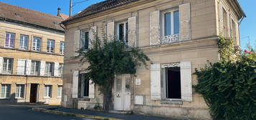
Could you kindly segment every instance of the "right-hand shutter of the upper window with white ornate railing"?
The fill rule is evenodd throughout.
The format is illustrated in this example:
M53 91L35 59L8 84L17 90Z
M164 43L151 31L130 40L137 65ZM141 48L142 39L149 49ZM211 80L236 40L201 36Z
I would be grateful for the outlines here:
M190 40L191 39L191 29L190 29L190 4L181 4L179 6L179 39Z

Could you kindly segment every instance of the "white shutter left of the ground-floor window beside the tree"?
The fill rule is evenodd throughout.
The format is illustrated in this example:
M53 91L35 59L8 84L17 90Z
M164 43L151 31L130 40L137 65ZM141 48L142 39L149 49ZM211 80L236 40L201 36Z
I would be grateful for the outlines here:
M79 78L79 71L74 71L73 82L72 82L72 98L78 97L78 78Z

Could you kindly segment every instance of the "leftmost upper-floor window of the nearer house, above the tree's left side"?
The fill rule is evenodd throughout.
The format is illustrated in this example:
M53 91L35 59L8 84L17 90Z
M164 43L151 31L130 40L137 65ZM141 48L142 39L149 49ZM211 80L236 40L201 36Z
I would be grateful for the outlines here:
M89 41L90 41L90 36L89 36L89 31L86 30L81 30L80 31L80 49L89 49Z

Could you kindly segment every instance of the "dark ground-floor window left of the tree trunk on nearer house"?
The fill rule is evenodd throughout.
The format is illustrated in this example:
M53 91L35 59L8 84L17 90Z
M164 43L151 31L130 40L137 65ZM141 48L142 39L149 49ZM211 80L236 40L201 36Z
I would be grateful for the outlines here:
M80 74L80 96L88 97L89 96L89 80L86 79L85 74Z

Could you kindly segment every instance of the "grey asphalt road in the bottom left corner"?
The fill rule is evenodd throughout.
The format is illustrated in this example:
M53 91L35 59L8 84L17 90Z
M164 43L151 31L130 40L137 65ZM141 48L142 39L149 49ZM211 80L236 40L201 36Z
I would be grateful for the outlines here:
M1 105L1 120L89 120L74 116L60 114L47 114L39 111L32 111L32 106Z

